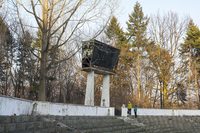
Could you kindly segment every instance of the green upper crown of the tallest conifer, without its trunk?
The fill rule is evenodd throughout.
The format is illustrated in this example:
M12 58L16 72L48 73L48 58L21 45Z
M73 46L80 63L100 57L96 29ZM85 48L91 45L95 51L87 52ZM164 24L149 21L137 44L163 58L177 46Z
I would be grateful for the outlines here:
M146 44L146 29L149 18L144 16L140 3L136 2L127 22L127 36L132 46L141 47Z

